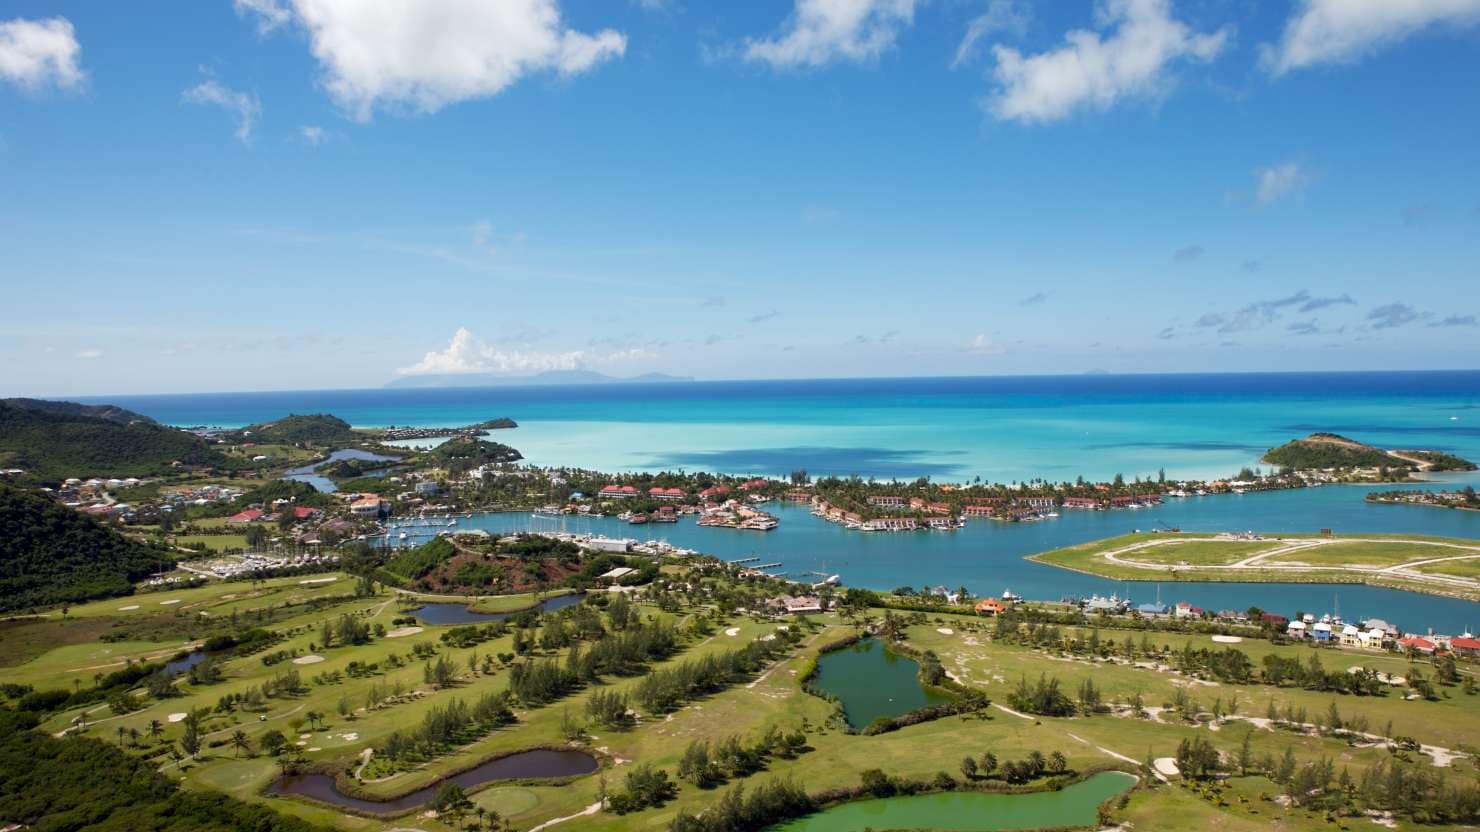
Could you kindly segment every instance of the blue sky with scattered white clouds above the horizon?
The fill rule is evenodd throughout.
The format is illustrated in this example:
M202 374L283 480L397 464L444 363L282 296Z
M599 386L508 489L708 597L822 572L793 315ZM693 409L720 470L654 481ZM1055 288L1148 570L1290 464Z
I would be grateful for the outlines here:
M1476 367L1477 77L1480 0L10 1L0 392Z

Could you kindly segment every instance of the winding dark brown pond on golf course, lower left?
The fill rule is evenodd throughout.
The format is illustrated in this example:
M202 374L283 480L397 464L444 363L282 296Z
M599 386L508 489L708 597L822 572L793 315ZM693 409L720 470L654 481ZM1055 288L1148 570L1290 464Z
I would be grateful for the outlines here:
M352 798L339 791L334 785L333 776L330 774L292 774L289 777L280 777L275 783L268 786L268 794L312 798L320 802L327 802L342 808L352 808L357 811L369 811L371 814L401 814L431 802L432 798L437 796L437 791L441 789L444 783L453 783L456 786L471 789L474 786L491 783L493 780L574 777L579 774L591 774L596 768L599 768L596 758L583 751L555 751L537 748L534 751L521 751L519 754L490 759L477 768L469 768L462 774L453 774L451 777L438 780L425 789L417 789L408 795L386 801Z

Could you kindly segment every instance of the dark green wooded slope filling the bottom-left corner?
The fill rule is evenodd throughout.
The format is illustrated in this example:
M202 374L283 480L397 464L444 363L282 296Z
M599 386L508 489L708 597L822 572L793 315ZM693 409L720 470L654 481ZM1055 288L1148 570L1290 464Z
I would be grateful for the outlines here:
M314 832L222 794L182 791L154 764L92 737L53 739L0 714L0 820L74 832Z

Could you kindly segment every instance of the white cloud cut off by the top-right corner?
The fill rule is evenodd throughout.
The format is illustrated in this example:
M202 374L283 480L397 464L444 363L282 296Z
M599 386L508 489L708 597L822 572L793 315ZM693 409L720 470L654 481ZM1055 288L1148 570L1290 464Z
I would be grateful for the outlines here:
M1480 0L1301 0L1262 62L1276 76L1356 61L1427 28L1480 24Z

